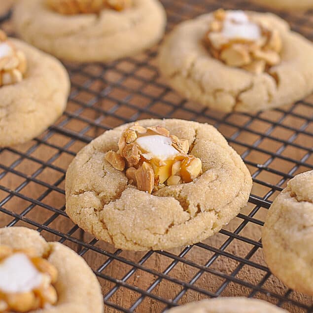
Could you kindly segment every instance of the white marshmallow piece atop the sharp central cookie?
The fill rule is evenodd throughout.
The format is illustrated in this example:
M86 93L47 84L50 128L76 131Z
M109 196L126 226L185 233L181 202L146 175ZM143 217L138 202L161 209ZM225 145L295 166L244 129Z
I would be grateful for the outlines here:
M173 159L179 152L172 146L172 139L162 135L143 136L136 139L140 148L146 153L143 157L150 160L152 158L166 161Z

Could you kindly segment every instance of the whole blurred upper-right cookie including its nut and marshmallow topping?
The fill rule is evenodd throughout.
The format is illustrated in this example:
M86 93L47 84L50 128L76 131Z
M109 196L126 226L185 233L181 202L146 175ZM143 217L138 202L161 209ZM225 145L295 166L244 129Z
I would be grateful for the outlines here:
M226 11L226 17L230 18L226 18L222 33L214 12L179 24L164 40L158 64L174 90L199 104L226 112L291 104L313 91L313 45L309 40L290 31L284 20L271 13ZM214 42L224 49L222 54L210 49L206 42L208 31L215 27ZM279 53L265 54L272 44L266 32L279 35ZM229 42L235 47L225 50ZM264 49L253 50L259 45ZM274 44L273 48L279 51L279 46ZM234 66L225 63L231 58ZM270 66L277 61L277 65Z

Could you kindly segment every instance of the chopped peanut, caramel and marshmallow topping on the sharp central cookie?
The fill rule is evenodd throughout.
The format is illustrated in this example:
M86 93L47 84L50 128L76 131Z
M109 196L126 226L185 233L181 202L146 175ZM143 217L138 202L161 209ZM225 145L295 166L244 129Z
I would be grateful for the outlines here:
M106 153L106 161L119 171L126 167L129 184L148 193L191 182L202 174L201 160L188 154L189 141L164 127L135 123L122 133L118 147L118 152Z

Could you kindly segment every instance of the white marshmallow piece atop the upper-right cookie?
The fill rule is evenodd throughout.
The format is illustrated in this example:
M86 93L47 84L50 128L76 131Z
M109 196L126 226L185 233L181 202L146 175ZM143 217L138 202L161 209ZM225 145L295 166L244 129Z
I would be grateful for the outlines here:
M249 21L243 11L226 13L222 34L228 39L258 40L261 38L260 27Z

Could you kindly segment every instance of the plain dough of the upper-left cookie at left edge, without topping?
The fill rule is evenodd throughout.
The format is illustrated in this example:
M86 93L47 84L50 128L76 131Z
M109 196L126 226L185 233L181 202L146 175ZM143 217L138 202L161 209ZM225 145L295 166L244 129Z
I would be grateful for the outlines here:
M23 143L40 135L65 110L70 79L54 57L18 39L28 70L19 83L0 87L0 146Z

